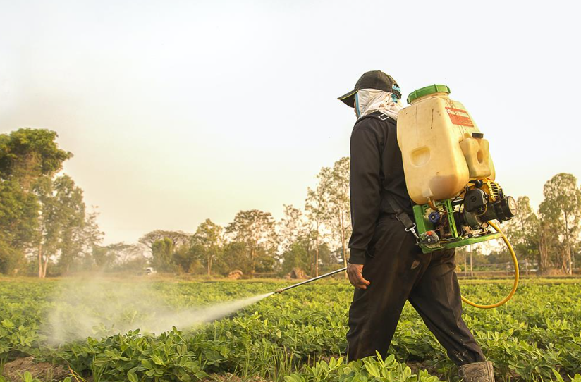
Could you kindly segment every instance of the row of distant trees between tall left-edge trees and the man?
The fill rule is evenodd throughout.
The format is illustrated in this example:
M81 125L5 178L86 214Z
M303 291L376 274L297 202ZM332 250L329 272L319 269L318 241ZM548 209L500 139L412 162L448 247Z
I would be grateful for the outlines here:
M209 218L195 233L154 230L137 245L118 243L101 250L109 267L128 250L133 261L149 261L158 271L227 274L240 270L247 276L267 273L281 276L300 269L318 276L320 271L347 264L351 233L349 206L349 159L342 158L317 175L317 186L307 189L302 209L283 205L283 218L270 212L239 211L225 227ZM119 251L121 250L121 254Z

